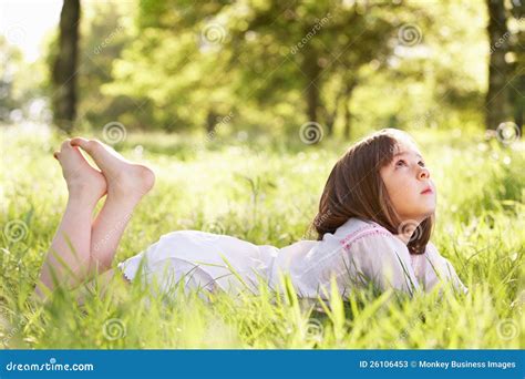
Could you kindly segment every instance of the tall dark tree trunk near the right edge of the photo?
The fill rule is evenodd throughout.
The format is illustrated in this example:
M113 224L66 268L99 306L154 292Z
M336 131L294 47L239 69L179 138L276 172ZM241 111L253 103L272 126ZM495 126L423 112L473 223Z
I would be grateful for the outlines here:
M488 40L491 55L488 66L488 91L485 99L485 126L496 129L509 115L508 91L506 88L509 33L506 27L504 0L486 0L488 8Z

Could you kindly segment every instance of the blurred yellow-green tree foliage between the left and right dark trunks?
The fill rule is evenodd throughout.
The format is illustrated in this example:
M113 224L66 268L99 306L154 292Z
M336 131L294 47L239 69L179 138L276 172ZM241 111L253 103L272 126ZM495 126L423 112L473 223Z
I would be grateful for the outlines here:
M229 131L272 135L311 120L347 135L478 125L484 22L478 7L452 1L143 0L135 28L122 31L126 47L99 63L111 70L104 96L126 99L121 114L93 109L131 129L168 132L212 131L230 113ZM400 40L404 27L415 43ZM89 39L101 40L104 28L95 23Z

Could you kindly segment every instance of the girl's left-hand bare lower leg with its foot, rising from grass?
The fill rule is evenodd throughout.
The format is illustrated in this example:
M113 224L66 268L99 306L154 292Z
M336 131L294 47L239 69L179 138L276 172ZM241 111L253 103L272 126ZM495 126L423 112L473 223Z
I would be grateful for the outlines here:
M71 286L87 275L92 213L106 192L104 176L84 160L78 147L71 146L70 140L54 156L62 165L69 198L40 276L48 289L53 289L53 275L60 283ZM35 294L44 296L39 286Z

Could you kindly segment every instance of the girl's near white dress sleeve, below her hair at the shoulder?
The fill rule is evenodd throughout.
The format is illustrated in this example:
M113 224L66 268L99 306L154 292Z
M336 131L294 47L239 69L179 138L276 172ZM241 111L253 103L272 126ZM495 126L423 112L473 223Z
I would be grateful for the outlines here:
M381 290L393 288L413 295L420 289L406 246L384 231L366 232L344 248L350 265Z

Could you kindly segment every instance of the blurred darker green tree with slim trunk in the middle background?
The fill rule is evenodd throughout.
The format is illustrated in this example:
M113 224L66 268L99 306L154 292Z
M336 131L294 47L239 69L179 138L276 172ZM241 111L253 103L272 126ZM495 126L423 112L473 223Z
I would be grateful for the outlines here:
M359 85L359 71L391 53L399 22L392 18L395 10L399 4L334 1L269 1L254 7L248 24L233 28L235 59L251 63L240 68L244 82L257 84L250 95L260 100L259 105L274 105L284 95L299 96L303 120L323 124L330 135L338 116L343 117L349 135L349 102ZM248 33L256 33L257 43L246 42ZM261 80L254 65L269 75ZM246 86L239 90L246 92Z

